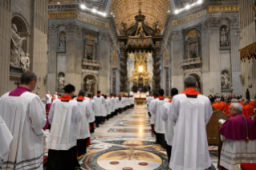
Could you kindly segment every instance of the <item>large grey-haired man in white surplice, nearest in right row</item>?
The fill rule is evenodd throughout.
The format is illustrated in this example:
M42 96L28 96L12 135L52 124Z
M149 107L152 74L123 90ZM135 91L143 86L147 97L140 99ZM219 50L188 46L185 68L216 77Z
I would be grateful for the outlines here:
M197 81L188 76L185 91L175 95L169 119L176 123L169 168L173 170L205 170L211 166L206 124L212 116L209 98L195 90Z

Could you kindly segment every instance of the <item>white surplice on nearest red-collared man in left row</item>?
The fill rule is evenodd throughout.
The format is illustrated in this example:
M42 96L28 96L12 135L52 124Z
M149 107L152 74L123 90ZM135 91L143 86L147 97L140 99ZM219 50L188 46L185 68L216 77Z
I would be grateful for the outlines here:
M76 100L64 102L55 100L49 112L51 132L48 136L47 148L68 150L76 145L77 124L83 117L83 111Z

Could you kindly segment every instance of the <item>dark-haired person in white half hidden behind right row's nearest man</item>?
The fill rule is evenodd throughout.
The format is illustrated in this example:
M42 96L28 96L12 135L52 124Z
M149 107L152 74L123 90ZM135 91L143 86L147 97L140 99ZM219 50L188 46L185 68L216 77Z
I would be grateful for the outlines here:
M178 94L177 88L172 88L171 98ZM161 107L161 118L165 121L165 141L166 141L166 152L168 156L168 162L171 160L172 145L173 145L173 131L175 123L173 120L169 119L170 107L172 107L172 99L165 103Z

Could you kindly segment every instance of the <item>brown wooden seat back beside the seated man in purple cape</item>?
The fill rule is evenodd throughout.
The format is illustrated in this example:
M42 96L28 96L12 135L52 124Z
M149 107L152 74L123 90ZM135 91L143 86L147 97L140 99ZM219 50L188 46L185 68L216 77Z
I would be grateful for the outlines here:
M229 119L229 116L220 110L213 111L213 115L211 119L209 119L209 123L206 125L208 144L217 145L219 142L218 127L221 125L218 123L219 119L226 120Z

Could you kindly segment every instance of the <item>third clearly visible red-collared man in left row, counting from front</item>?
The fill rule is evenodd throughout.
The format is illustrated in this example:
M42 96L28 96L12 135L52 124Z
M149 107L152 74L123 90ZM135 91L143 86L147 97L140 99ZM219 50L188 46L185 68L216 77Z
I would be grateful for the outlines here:
M100 91L97 91L97 95L93 97L95 101L95 124L96 127L100 127L99 124L103 120L103 109L104 104L106 103L103 96L100 95Z

